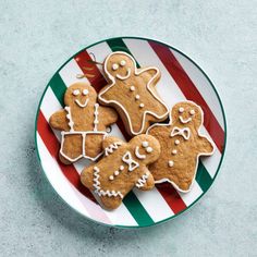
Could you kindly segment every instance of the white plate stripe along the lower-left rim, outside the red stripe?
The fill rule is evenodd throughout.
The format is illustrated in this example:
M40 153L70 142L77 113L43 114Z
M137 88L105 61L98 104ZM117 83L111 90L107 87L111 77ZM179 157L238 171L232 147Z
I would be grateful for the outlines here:
M75 187L71 186L70 182L63 175L56 159L51 157L47 147L45 146L39 133L37 133L37 146L40 155L42 169L57 193L64 199L71 207L76 209L83 216L95 219L99 222L111 224L101 208L91 200L84 197ZM90 209L90 211L88 211ZM89 213L94 212L94 217Z

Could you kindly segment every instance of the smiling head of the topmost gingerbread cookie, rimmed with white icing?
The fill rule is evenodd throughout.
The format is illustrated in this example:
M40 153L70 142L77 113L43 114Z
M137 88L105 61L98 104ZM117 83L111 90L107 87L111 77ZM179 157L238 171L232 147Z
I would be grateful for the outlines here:
M135 61L126 52L113 52L105 60L105 72L110 78L127 79L135 72Z

